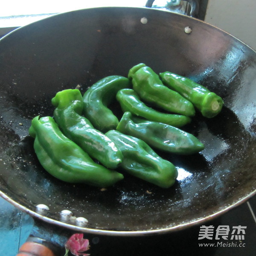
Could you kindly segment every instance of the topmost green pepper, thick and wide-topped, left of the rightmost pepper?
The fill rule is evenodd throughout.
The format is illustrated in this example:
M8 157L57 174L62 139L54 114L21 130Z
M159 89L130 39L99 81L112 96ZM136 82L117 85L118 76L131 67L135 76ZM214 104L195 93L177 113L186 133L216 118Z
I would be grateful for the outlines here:
M129 73L132 77L133 89L143 102L172 113L184 116L195 115L193 104L176 91L166 87L150 67L140 67L138 64L137 68L136 71L133 67Z

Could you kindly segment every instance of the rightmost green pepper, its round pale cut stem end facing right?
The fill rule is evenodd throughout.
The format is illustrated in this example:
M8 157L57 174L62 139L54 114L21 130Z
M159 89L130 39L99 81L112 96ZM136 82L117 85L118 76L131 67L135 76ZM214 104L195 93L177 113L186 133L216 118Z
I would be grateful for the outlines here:
M206 87L170 72L160 73L160 78L167 87L192 102L203 116L211 118L221 111L223 99Z

